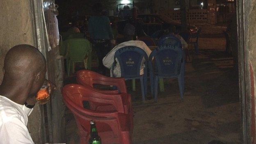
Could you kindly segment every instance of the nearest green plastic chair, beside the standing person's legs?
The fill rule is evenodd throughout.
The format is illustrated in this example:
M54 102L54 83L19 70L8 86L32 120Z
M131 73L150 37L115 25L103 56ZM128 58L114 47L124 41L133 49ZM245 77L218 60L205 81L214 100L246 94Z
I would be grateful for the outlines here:
M66 40L68 58L68 76L72 67L75 73L75 63L84 62L85 69L91 70L91 43L87 39Z

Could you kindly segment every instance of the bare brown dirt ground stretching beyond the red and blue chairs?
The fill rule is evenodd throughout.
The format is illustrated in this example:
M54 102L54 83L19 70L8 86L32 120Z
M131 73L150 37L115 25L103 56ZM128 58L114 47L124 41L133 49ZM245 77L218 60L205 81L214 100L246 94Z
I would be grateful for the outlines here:
M186 63L184 101L175 79L165 80L165 91L159 92L158 103L153 102L149 81L146 103L142 103L139 81L136 91L127 82L133 98L133 144L242 143L238 80L233 73L233 58L224 51L225 29L202 26L199 55L190 55ZM76 144L79 139L68 110L66 138L67 144Z

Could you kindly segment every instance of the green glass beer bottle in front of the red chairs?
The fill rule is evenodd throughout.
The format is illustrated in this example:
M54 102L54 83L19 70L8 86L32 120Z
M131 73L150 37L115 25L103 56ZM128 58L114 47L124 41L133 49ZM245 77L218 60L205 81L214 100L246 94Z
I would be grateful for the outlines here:
M88 144L101 144L101 137L98 136L95 121L91 120L91 137Z

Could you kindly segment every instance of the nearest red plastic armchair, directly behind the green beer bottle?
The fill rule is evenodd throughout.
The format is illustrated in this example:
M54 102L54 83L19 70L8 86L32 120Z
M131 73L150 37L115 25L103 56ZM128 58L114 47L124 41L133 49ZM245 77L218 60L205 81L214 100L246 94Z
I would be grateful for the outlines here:
M101 98L103 95L93 89L78 84L63 87L62 95L66 106L73 112L79 129L80 144L87 144L90 134L90 120L96 121L98 135L102 144L130 144L131 123L129 114L117 111L98 112L83 107L83 101L93 101L114 105L113 99ZM116 95L114 97L121 96ZM112 97L112 96L109 96Z

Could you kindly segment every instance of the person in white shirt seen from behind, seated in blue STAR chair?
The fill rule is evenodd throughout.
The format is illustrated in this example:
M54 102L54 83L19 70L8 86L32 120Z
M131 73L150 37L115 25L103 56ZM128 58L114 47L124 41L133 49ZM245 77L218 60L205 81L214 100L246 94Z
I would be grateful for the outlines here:
M108 69L112 69L112 64L114 63L114 54L119 48L125 47L125 46L137 46L144 50L146 54L150 55L151 50L143 41L126 41L123 43L120 43L119 45L115 46L104 58L103 58L103 65L106 66ZM116 59L117 60L117 59ZM143 75L144 73L144 62L145 59L142 60L142 64L140 67L140 75ZM112 74L112 73L111 73ZM114 67L114 77L121 77L121 69L119 62L117 61L116 66Z

